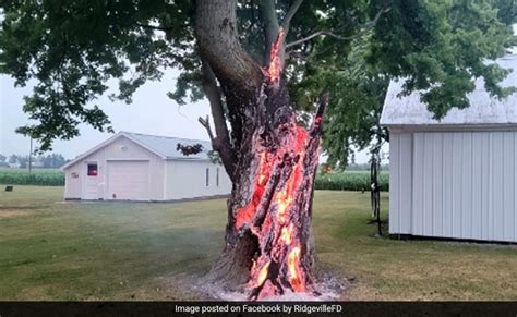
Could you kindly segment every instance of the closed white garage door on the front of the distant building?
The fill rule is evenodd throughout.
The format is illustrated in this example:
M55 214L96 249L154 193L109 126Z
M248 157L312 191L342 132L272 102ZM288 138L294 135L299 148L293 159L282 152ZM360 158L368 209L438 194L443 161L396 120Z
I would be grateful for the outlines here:
M149 200L149 162L108 161L108 199Z

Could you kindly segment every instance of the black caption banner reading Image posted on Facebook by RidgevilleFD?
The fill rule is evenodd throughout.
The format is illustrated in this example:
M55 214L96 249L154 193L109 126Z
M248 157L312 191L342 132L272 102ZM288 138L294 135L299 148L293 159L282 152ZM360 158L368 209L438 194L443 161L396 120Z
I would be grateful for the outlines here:
M517 316L517 302L0 302L17 316Z

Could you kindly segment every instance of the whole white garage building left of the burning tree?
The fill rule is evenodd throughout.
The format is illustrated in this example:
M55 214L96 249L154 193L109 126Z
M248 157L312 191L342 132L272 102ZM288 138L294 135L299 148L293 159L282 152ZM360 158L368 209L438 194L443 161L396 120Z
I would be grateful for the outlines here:
M184 156L182 145L203 151ZM207 156L205 141L120 132L70 161L65 199L164 202L228 195L231 182Z

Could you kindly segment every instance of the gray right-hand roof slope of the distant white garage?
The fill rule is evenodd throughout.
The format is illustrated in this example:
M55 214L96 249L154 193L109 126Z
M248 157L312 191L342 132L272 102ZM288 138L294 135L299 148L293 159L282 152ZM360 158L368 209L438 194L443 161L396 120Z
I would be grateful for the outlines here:
M179 138L171 136L147 135L132 132L120 132L120 134L148 148L155 154L167 159L208 159L208 151L212 150L211 142L202 139ZM182 145L201 144L203 150L196 155L184 156L177 150L178 143Z

